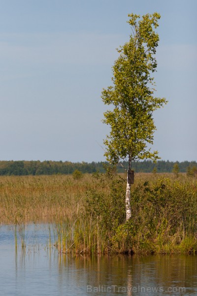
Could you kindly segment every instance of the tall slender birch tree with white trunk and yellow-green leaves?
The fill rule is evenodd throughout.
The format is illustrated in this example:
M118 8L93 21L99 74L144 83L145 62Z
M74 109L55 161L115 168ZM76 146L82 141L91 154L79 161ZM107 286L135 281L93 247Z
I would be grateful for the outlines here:
M160 14L128 16L131 36L117 49L119 57L112 67L112 85L103 89L101 98L110 106L103 119L110 126L110 134L104 140L104 155L113 164L127 160L129 176L133 160L159 158L158 151L149 148L156 130L153 111L166 104L166 100L154 95L153 73L157 68L155 54L159 41L155 29ZM127 178L126 221L131 218L130 197L131 184Z

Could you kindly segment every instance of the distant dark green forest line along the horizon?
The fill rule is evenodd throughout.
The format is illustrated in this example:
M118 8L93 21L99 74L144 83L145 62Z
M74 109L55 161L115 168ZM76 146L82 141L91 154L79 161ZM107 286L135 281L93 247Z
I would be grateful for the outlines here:
M84 173L103 173L105 169L103 163L107 162L70 162L70 161L0 161L0 176L24 176L24 175L54 175L54 174L72 174L75 170ZM139 173L170 173L173 172L174 165L177 164L179 172L188 172L191 168L197 167L196 161L173 162L159 160L157 164L152 161L133 162L132 169ZM127 162L122 162L127 168ZM117 166L117 172L124 172L122 166Z

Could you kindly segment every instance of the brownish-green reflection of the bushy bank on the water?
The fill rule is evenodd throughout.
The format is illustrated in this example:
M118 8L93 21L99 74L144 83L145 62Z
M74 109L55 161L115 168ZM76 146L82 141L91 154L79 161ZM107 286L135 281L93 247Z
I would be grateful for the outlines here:
M59 257L59 284L87 295L197 295L197 257Z

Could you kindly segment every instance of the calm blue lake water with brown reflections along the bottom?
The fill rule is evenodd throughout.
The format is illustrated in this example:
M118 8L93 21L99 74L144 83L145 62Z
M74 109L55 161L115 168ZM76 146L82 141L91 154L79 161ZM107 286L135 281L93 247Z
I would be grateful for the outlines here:
M48 226L0 226L0 296L197 295L197 256L66 256Z

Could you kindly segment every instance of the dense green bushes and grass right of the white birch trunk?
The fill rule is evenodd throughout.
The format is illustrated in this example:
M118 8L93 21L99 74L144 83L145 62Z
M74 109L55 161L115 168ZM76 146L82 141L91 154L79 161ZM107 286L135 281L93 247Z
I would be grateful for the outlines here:
M195 237L196 188L164 178L137 185L132 196L135 252L143 250L140 240L152 244L153 252L165 253L167 245L173 252L186 236Z

